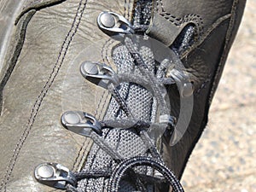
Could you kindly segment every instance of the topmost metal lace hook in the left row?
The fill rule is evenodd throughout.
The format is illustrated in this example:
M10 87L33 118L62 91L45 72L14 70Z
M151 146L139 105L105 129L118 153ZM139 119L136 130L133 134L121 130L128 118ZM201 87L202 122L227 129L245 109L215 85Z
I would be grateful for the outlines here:
M106 32L109 35L134 33L133 26L131 26L131 23L126 20L124 16L110 11L102 12L97 17L97 24L103 32Z

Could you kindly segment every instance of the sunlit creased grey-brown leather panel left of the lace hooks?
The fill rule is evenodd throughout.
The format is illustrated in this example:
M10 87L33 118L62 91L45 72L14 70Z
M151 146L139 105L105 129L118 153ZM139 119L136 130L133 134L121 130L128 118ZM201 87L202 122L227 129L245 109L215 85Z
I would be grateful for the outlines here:
M14 70L2 87L1 191L51 191L33 177L35 166L43 162L81 169L91 141L64 129L61 113L80 109L98 118L104 114L108 94L85 81L79 65L106 60L112 47L106 43L109 37L96 25L97 15L104 10L131 15L132 5L132 1L73 0L33 15L18 60L12 63ZM79 6L85 6L79 10L84 14L73 25ZM63 51L67 47L67 52ZM9 65L7 62L4 65Z

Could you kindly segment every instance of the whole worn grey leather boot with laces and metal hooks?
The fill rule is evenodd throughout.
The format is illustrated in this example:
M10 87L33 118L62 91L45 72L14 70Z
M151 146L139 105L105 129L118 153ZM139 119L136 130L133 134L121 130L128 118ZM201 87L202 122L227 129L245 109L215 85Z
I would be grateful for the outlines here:
M183 191L245 2L0 0L0 191Z

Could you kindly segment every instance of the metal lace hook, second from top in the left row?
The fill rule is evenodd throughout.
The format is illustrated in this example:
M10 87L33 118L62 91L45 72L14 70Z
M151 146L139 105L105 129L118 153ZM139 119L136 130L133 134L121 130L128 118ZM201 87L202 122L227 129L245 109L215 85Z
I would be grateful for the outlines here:
M111 83L115 86L119 84L119 78L112 67L102 63L84 61L80 66L80 72L84 79L104 89L108 89Z

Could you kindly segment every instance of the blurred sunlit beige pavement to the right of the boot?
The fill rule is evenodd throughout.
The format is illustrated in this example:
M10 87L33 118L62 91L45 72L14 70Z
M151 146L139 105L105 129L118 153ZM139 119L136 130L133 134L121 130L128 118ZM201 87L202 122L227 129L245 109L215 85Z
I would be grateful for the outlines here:
M212 102L209 123L182 183L188 192L256 192L256 0L247 0Z

